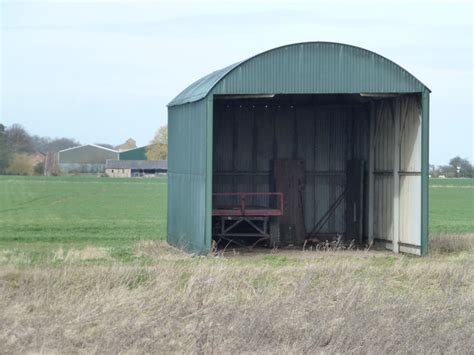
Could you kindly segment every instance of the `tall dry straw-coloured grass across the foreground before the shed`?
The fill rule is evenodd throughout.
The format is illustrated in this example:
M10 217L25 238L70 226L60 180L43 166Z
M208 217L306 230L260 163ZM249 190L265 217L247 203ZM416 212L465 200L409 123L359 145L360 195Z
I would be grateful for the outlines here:
M3 353L473 353L473 254L0 268Z

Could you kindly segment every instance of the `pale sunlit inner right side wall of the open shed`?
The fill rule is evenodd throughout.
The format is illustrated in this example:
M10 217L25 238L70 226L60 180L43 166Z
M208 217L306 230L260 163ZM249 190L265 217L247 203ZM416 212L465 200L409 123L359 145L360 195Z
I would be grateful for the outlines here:
M416 96L381 100L375 104L375 215L374 236L393 240L394 194L399 196L399 243L420 246L421 223L421 117ZM398 118L398 119L395 119ZM395 142L398 124L400 140ZM395 151L397 149L397 151ZM400 161L399 190L394 190L394 157Z

